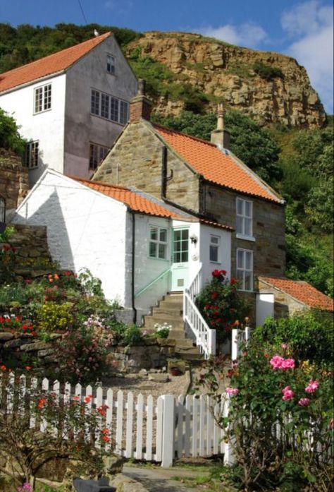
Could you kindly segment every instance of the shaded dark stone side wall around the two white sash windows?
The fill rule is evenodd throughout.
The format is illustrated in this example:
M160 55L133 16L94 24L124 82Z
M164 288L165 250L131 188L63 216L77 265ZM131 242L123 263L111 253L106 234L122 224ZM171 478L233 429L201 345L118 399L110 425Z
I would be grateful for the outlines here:
M285 275L285 219L284 206L267 200L245 197L218 186L206 184L205 211L223 224L235 228L236 198L246 198L253 202L253 236L255 241L237 239L232 234L232 275L236 275L236 250L244 248L254 251L254 277L266 275L282 277ZM255 279L254 279L255 286Z

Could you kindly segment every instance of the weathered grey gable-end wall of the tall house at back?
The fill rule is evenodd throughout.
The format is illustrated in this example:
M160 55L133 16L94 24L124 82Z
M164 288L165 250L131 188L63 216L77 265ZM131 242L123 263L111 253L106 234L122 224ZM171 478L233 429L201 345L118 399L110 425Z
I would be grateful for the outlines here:
M115 57L115 75L106 71ZM68 69L66 79L65 173L89 178L89 142L110 148L124 125L91 114L92 89L130 102L137 80L113 36Z

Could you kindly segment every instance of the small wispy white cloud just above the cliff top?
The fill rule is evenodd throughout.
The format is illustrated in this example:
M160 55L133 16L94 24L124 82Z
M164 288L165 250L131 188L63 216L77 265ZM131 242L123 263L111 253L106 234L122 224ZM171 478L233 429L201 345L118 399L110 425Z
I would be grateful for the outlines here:
M218 28L208 26L196 32L204 36L247 47L258 47L267 38L266 31L260 25L245 23L241 25L225 24Z

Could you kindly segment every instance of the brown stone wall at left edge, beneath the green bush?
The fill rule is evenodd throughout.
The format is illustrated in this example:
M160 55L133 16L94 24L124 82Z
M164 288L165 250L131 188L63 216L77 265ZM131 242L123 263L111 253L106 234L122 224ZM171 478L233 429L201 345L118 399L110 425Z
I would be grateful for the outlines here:
M27 168L20 157L0 149L0 197L6 200L6 221L29 191Z

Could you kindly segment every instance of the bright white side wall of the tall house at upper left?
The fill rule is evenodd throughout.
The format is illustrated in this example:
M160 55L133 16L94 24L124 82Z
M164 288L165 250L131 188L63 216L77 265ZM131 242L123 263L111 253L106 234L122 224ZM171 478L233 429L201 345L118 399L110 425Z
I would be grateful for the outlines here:
M51 109L34 114L35 88L49 83ZM39 140L39 167L29 171L32 184L47 167L63 172L65 94L66 75L62 74L0 96L0 107L16 119L20 134L27 140Z

